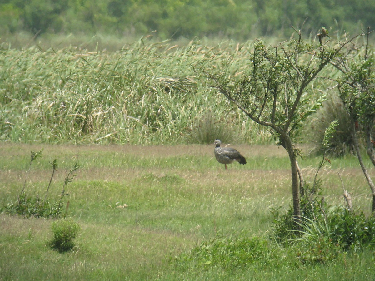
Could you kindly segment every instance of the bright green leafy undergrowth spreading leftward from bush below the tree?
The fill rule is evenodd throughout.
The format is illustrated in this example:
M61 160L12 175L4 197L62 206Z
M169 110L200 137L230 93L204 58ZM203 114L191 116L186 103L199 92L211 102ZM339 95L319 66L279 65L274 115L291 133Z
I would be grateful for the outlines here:
M284 245L266 237L248 237L245 233L237 236L219 234L171 261L180 271L220 268L228 272L271 265L282 268L330 264L343 252L373 251L374 222L374 217L366 218L363 212L332 208L325 215L318 212L312 219L305 218L300 230L285 228L294 238L279 241ZM276 221L275 227L285 225Z

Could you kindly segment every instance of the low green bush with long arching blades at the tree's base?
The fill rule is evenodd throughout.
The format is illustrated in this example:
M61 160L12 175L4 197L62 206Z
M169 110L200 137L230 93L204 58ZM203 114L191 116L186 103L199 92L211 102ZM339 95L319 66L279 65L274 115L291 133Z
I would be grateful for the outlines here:
M366 217L344 207L334 207L314 219L303 218L288 242L303 263L329 263L341 251L363 251L375 247L375 217Z

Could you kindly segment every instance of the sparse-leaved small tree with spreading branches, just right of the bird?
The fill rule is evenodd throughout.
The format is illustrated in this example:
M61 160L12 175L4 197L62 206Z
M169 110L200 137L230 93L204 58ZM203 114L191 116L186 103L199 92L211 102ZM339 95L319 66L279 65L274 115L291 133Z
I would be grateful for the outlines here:
M250 54L250 62L243 76L237 81L219 74L207 73L214 82L211 87L220 91L235 103L251 120L267 127L275 135L278 144L289 155L293 194L293 213L301 215L300 196L303 176L295 146L296 136L303 121L321 106L324 96L314 98L309 85L318 74L339 54L351 40L335 47L310 45L297 39L266 48L257 40Z

